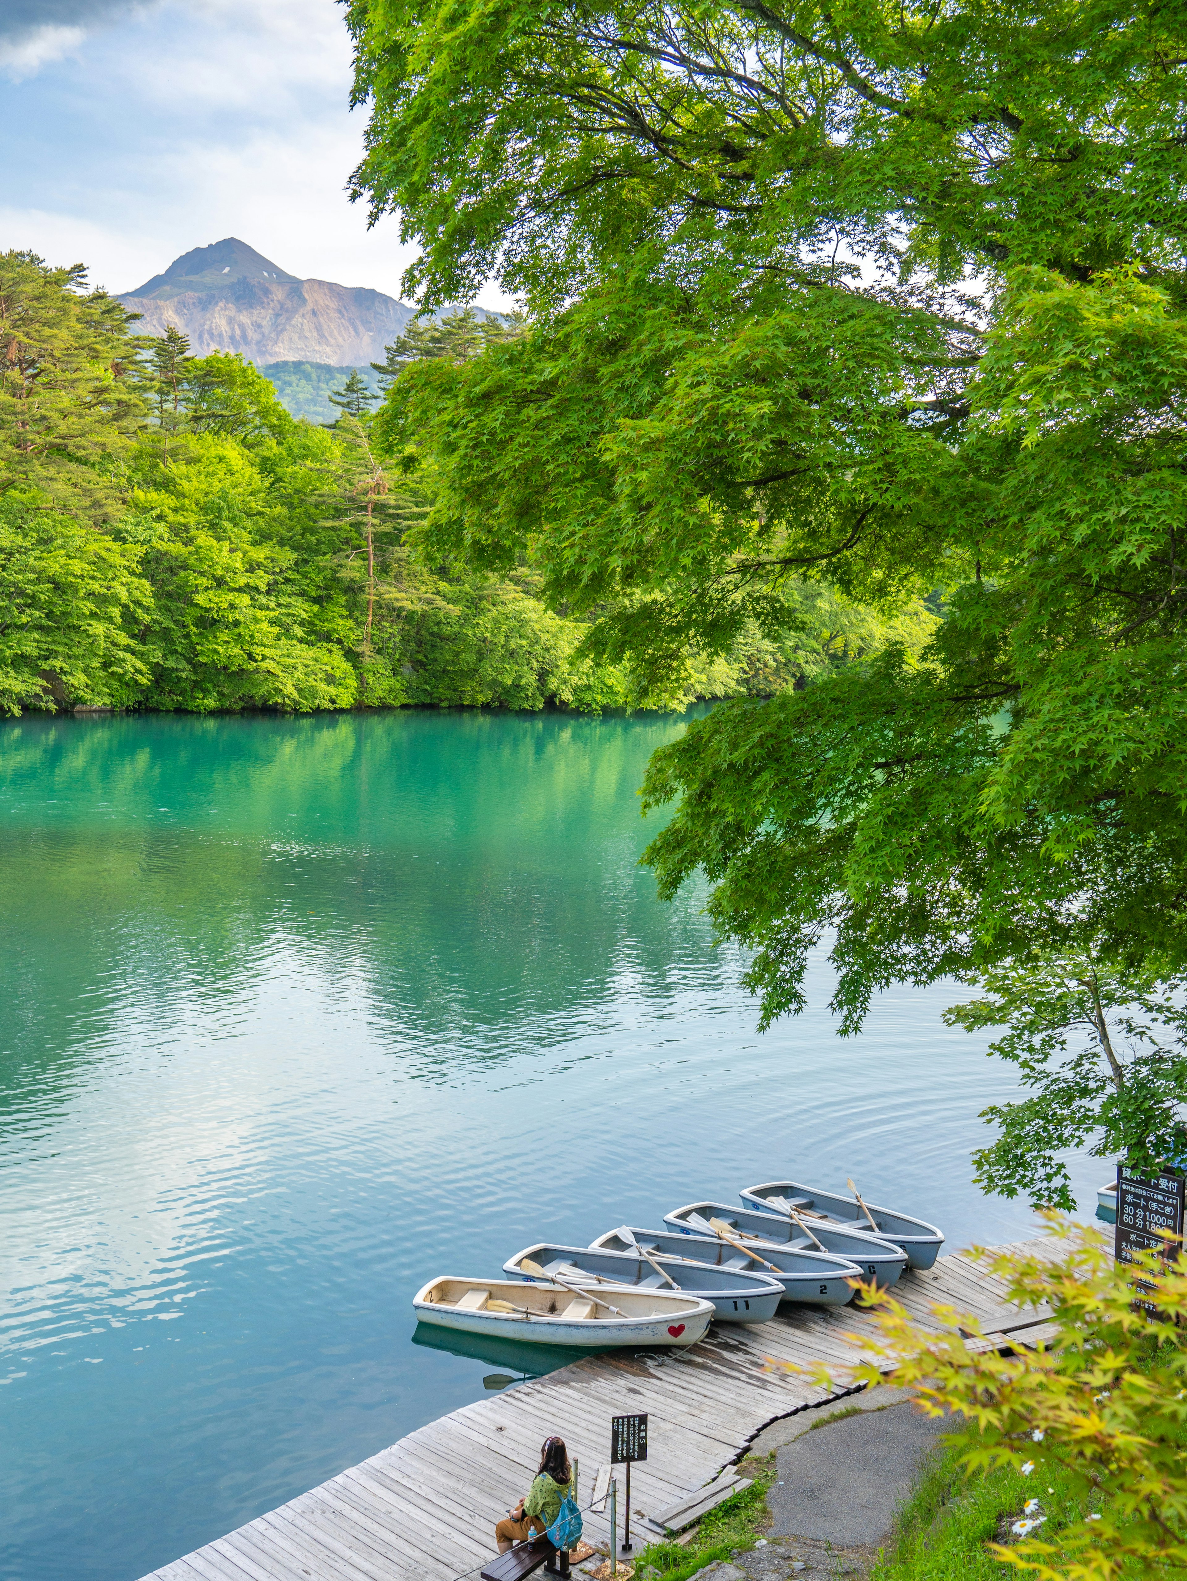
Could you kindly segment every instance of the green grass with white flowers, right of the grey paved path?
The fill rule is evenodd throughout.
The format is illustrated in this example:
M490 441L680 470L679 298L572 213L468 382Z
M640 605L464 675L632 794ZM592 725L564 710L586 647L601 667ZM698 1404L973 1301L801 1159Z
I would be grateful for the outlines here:
M1008 1540L1008 1523L1027 1499L1038 1499L1046 1516L1032 1535L1048 1541L1086 1513L1070 1478L1056 1469L1038 1467L1031 1477L1010 1467L970 1475L956 1464L964 1442L961 1434L928 1464L871 1581L1000 1581L1015 1575L1013 1567L985 1545Z

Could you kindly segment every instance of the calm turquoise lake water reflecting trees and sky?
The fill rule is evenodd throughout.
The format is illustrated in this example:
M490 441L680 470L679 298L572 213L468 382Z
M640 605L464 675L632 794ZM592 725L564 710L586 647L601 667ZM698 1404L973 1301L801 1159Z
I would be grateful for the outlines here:
M553 1364L414 1342L420 1284L534 1240L784 1173L1026 1233L970 1179L1012 1080L959 990L842 1040L822 960L760 1037L703 892L656 900L681 729L0 724L0 1575L134 1581Z

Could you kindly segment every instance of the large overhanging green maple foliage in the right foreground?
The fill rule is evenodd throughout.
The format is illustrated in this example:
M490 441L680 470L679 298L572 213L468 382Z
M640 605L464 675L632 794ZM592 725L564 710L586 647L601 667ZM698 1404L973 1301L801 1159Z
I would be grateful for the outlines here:
M419 364L378 425L422 542L526 561L654 685L805 582L901 618L658 754L763 1018L831 938L893 980L1184 960L1184 49L1159 6L352 0L356 193L424 300L529 335ZM498 440L498 444L495 443ZM409 462L411 465L411 462Z

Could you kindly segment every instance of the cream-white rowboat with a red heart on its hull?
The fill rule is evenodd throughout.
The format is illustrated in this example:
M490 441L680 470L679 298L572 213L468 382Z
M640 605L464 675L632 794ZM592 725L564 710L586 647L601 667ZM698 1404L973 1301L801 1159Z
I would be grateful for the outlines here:
M413 1298L422 1323L466 1334L499 1334L545 1345L612 1350L631 1345L694 1345L705 1338L713 1303L658 1290L518 1279L430 1279Z

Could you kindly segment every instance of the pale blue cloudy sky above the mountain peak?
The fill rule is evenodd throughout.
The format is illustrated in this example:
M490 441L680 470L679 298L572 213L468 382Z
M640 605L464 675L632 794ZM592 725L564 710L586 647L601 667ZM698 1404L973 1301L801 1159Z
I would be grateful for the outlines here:
M400 296L397 217L368 231L345 193L365 128L349 87L333 0L0 0L0 250L120 292L236 236Z

